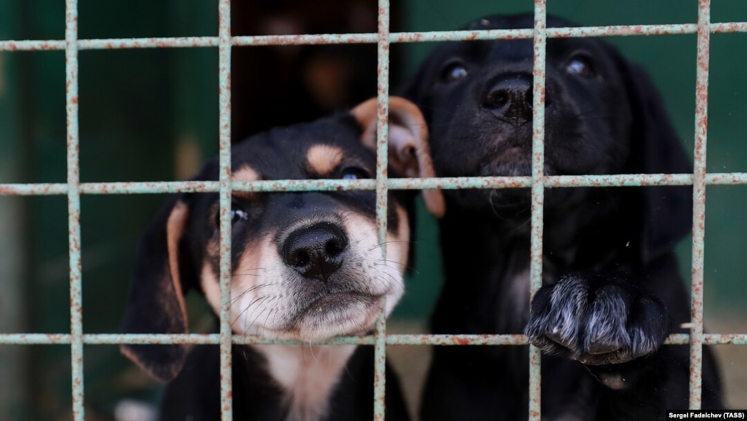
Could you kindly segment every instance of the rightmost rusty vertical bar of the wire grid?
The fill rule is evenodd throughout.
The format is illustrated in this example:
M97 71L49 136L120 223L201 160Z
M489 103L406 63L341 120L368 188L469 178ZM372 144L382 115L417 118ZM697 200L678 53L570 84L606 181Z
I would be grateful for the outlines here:
M698 1L698 64L695 76L695 165L692 175L692 304L690 307L690 409L701 408L703 369L703 262L708 130L710 0Z

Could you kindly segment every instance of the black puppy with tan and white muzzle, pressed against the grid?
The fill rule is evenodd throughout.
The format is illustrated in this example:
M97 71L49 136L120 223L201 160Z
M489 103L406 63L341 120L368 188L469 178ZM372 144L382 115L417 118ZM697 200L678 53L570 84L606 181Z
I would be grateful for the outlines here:
M391 176L433 176L427 129L411 102L390 102ZM362 179L376 168L376 99L348 113L274 129L232 150L232 179ZM196 176L217 179L216 160ZM436 214L439 191L424 194ZM125 333L187 332L184 295L197 289L214 309L229 305L237 334L320 341L371 331L403 294L413 193L388 199L388 253L376 240L373 191L235 192L232 301L220 302L217 194L179 194L140 241ZM386 308L381 299L386 298ZM123 345L171 381L163 420L220 417L219 352L201 346ZM236 420L371 420L373 348L355 345L235 345ZM173 380L173 381L172 381ZM404 420L399 384L387 374L388 419Z

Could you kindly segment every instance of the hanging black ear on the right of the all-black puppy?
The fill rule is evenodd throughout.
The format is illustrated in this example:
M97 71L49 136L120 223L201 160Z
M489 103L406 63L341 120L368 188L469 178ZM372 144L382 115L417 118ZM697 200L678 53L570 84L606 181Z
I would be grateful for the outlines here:
M633 115L628 170L692 173L692 164L656 87L638 66L622 58L619 61ZM692 187L644 187L642 195L642 259L650 262L671 251L692 230Z

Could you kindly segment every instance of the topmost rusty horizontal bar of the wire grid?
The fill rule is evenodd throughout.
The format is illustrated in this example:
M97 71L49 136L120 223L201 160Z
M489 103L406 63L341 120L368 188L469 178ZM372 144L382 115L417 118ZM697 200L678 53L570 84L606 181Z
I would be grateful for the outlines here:
M608 25L583 26L577 28L548 28L551 38L568 37L622 37L635 35L695 34L695 23L663 25ZM711 23L714 34L747 32L747 22ZM392 32L390 43L427 43L463 40L511 40L530 39L533 30L486 29L478 31L425 31ZM285 46L317 44L376 43L378 34L299 34L299 35L256 35L231 37L233 46ZM78 40L78 49L146 49L146 48L188 48L217 47L218 37L144 37L108 38ZM0 51L47 51L63 50L64 40L3 40Z

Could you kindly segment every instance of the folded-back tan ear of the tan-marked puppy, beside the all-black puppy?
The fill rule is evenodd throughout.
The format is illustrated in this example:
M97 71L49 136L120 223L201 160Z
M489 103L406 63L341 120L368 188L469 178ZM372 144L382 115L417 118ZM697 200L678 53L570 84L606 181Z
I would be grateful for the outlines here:
M376 98L353 108L350 114L362 127L362 142L376 151ZM434 177L428 144L428 127L418 107L399 96L389 97L389 165L400 176ZM444 216L446 205L440 190L424 189L427 209L437 218Z

